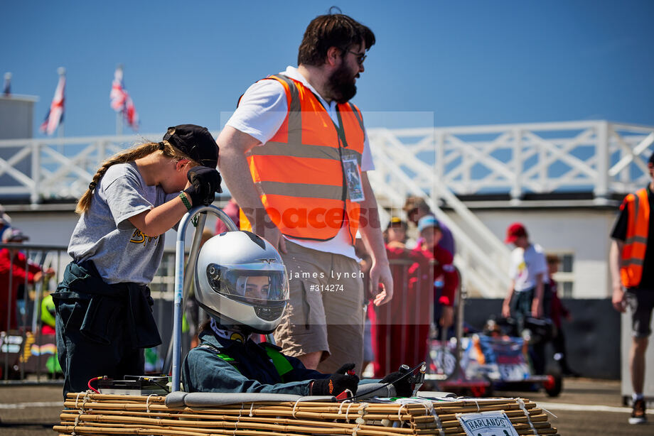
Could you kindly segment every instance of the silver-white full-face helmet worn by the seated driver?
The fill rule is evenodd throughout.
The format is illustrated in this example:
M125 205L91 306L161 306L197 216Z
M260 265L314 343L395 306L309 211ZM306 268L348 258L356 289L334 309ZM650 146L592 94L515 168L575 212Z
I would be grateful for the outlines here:
M200 249L195 265L195 298L222 325L270 333L289 300L282 257L250 231L213 236Z

